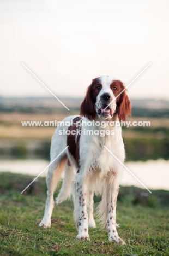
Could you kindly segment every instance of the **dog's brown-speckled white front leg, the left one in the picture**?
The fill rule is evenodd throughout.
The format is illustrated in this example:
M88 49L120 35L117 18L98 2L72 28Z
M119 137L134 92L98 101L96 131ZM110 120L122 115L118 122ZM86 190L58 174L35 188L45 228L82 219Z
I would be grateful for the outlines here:
M87 214L87 182L80 173L76 174L76 206L74 209L75 223L78 229L77 239L89 240Z

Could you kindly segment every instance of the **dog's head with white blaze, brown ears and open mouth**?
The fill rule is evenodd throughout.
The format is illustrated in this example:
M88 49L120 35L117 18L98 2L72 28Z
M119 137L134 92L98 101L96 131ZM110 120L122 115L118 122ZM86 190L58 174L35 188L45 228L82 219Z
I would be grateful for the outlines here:
M112 77L94 78L81 104L81 115L89 120L96 117L111 119L115 113L119 121L125 121L126 115L131 114L131 103L125 86Z

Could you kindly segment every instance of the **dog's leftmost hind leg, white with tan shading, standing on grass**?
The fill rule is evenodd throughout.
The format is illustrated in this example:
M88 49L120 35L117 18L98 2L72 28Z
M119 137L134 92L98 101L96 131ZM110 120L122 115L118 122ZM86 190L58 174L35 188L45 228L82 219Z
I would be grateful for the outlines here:
M63 171L65 161L67 159L63 158L60 162L53 162L49 166L49 171L46 176L46 184L47 184L47 199L45 206L45 213L43 220L40 222L39 226L43 226L44 228L50 228L51 226L51 216L54 207L53 193L56 189L57 183L61 177L61 173Z

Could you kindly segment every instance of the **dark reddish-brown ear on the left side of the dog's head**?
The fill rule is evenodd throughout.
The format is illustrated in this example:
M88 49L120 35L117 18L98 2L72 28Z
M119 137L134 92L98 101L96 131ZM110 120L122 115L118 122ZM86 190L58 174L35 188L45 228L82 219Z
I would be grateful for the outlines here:
M94 98L92 93L92 86L94 83L94 79L92 81L92 84L87 88L85 99L83 100L81 107L80 107L80 114L83 115L83 117L86 117L89 120L94 120L96 116L96 112L94 109Z

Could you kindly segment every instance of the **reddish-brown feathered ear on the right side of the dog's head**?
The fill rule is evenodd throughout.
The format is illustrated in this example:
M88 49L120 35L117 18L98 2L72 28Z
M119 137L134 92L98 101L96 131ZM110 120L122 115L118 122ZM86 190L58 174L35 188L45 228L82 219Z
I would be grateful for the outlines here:
M121 83L122 90L125 89L123 83ZM126 90L122 92L121 95L119 95L119 100L117 100L117 111L118 111L118 118L119 121L125 121L125 117L127 115L131 115L131 102L129 100L128 95L126 94Z

